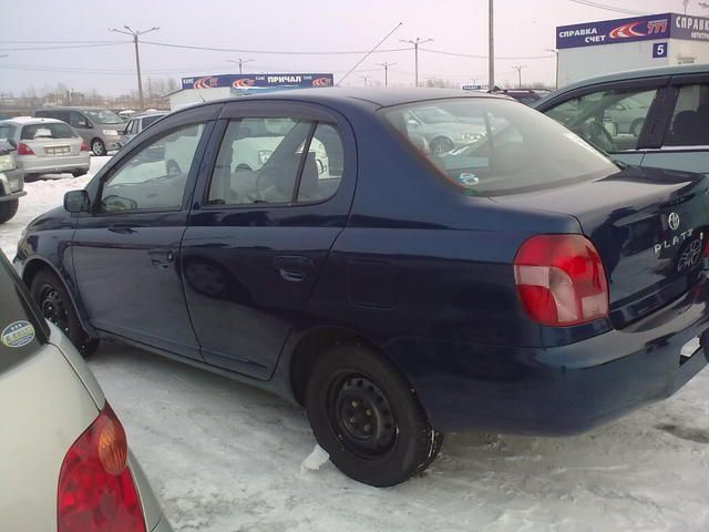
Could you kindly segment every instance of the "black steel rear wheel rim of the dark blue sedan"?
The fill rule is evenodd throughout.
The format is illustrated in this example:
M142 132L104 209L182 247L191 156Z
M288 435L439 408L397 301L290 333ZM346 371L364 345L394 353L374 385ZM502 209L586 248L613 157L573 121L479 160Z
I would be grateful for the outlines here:
M338 441L364 460L381 460L395 447L398 424L388 397L368 376L347 372L328 392L328 418Z

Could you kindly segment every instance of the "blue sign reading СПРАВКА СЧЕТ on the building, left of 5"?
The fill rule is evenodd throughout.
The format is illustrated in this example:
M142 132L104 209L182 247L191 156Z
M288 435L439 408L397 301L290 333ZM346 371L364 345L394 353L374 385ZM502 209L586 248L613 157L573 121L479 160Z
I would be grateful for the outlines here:
M620 42L668 39L671 13L604 20L556 28L556 48L595 47Z

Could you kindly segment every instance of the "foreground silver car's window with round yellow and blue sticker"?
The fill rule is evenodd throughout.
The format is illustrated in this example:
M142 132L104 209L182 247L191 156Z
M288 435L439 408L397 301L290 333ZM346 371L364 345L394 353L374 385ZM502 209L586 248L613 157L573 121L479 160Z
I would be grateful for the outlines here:
M0 374L37 351L49 328L24 285L0 252Z

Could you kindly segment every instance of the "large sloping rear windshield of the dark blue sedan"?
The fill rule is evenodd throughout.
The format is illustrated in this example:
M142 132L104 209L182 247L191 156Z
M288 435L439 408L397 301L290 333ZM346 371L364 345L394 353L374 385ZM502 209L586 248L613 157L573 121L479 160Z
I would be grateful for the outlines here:
M412 120L436 108L450 120ZM470 195L549 188L618 171L602 152L525 105L492 98L418 102L382 110L417 152Z

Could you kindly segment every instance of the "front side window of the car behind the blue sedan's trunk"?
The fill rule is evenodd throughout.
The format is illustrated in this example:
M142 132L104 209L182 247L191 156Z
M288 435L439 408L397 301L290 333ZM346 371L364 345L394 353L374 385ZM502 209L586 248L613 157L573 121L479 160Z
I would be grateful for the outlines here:
M604 152L636 150L657 90L608 90L556 105L545 114Z

